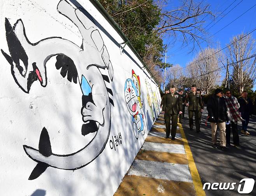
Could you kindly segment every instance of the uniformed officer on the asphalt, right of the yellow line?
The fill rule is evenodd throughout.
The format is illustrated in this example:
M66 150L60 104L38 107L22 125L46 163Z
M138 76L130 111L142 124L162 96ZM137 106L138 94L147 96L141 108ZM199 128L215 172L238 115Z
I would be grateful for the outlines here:
M192 85L191 92L185 100L188 106L189 128L193 130L193 114L195 113L196 132L200 132L200 112L203 111L203 101L200 94L196 92L196 85Z

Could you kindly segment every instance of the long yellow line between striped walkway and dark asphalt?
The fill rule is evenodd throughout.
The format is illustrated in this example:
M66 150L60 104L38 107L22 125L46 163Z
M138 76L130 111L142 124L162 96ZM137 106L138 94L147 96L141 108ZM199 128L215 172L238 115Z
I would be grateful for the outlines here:
M189 147L188 140L186 138L182 125L180 123L178 123L178 125L181 132L182 140L184 142L184 149L188 158L188 167L191 173L193 184L195 186L196 195L205 196L205 191L203 190L203 184L201 182L198 170L196 169L196 164L195 164L191 149Z

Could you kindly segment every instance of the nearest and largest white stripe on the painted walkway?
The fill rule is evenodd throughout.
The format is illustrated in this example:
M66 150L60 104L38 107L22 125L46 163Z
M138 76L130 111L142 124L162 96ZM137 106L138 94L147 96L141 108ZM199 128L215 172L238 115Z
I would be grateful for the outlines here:
M134 160L128 175L193 182L188 165L156 161Z

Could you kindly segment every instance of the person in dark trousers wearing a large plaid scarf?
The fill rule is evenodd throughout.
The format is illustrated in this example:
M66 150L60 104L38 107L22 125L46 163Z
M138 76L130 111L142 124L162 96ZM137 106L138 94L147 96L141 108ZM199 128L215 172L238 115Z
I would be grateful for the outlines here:
M238 129L237 129L237 121L244 121L239 113L238 108L239 103L237 101L237 98L235 98L232 95L232 92L229 88L224 88L223 90L223 97L226 102L226 106L228 109L228 120L230 120L230 123L226 125L226 143L230 145L230 128L232 127L232 133L233 133L233 144L234 146L240 146L239 144L239 135L238 135Z

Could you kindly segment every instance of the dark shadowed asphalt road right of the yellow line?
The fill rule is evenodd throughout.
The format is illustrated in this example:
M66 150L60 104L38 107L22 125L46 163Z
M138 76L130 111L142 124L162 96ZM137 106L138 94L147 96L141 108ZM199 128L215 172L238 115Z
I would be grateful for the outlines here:
M189 130L188 110L186 108L185 118L182 127L191 148L193 158L196 163L202 184L205 182L233 183L234 190L205 190L207 196L256 196L256 184L250 194L238 193L238 184L244 178L256 180L256 116L250 118L248 125L249 136L239 134L241 147L233 146L233 135L231 131L231 146L227 146L227 151L222 151L218 145L217 149L212 148L210 123L205 126L207 110L203 111L201 132L196 133L195 125L193 130ZM241 123L238 130L241 130ZM219 142L219 134L217 134ZM243 183L241 183L243 184ZM244 185L242 185L243 187Z

